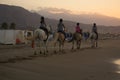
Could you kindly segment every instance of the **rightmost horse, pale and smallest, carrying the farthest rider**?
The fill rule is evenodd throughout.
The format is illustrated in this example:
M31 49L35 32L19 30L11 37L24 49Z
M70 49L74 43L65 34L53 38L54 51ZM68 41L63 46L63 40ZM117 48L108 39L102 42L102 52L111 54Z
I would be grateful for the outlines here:
M95 32L90 33L91 47L98 47L98 36Z

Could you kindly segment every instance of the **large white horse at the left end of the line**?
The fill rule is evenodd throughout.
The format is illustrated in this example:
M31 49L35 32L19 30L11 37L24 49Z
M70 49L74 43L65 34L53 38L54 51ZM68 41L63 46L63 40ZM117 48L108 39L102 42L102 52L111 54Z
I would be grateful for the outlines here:
M40 54L43 53L44 55L46 55L46 53L48 52L47 42L48 42L48 37L50 34L49 33L50 27L47 26L46 28L48 30L48 35L43 29L38 28L34 30L33 39L32 39L32 47L34 48L34 55L37 54L37 46L39 47Z

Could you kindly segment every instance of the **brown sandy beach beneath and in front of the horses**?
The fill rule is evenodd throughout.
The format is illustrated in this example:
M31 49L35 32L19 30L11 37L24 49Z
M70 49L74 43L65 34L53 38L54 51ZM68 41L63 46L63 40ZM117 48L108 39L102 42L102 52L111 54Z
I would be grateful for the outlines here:
M90 48L84 42L73 51L67 44L64 54L47 57L30 57L33 50L26 46L0 47L0 80L120 80L119 44L120 40L100 40L98 48ZM18 60L12 61L15 57Z

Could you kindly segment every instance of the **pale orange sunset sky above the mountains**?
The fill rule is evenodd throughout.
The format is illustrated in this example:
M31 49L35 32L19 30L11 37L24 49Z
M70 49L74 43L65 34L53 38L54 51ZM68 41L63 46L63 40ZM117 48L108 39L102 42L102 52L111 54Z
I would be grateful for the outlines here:
M0 4L21 6L28 10L58 8L75 14L99 13L120 18L120 0L0 0Z

